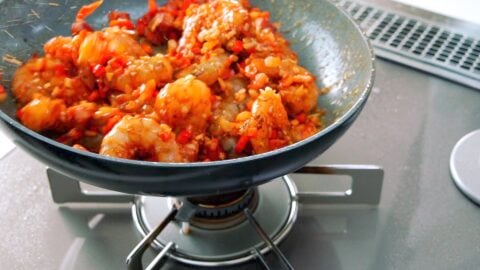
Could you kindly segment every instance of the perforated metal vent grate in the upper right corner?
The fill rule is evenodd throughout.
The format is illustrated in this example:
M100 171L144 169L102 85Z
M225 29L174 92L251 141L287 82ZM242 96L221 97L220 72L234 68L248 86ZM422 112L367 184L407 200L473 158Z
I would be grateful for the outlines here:
M468 35L364 2L337 4L364 29L377 56L480 90L480 32Z

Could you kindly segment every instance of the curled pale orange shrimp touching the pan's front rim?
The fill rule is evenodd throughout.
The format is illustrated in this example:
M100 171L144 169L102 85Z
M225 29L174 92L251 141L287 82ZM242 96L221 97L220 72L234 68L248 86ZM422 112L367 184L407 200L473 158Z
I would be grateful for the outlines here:
M100 154L162 162L183 161L171 128L140 116L125 116L120 120L103 138Z

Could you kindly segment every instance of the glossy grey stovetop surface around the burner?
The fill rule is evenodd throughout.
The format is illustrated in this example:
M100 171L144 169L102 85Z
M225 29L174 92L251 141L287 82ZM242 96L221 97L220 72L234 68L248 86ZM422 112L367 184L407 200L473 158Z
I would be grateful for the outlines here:
M311 164L382 166L380 204L301 204L280 249L296 269L477 269L480 211L456 189L449 158L479 119L480 92L378 59L361 116ZM54 204L44 165L18 148L0 159L0 172L2 268L125 269L140 240L129 204ZM292 178L300 190L349 188L343 178ZM199 268L170 260L162 269Z

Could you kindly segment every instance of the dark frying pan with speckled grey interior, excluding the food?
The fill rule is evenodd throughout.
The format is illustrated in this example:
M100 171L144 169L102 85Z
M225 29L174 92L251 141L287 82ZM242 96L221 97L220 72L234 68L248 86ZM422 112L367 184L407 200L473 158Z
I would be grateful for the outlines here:
M0 0L0 66L9 91L21 61L41 52L55 35L69 35L78 8L89 1ZM372 48L365 35L342 10L327 0L253 0L268 10L271 20L298 53L300 63L328 94L318 98L327 110L326 127L316 135L287 147L249 157L214 162L160 163L124 160L73 149L35 133L15 118L9 94L0 104L0 126L13 141L55 170L110 190L150 195L207 195L260 185L293 172L329 148L353 123L367 101L374 80ZM88 21L97 29L106 25L108 11L118 9L138 18L147 1L105 1Z

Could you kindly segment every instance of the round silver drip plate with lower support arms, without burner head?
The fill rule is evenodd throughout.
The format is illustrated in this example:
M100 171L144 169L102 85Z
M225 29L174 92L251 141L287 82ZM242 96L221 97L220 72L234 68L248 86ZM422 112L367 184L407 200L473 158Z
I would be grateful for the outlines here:
M246 220L242 223L223 230L192 226L190 234L181 232L182 219L189 215L181 213L183 207L173 207L164 197L138 197L132 212L144 240L129 255L129 269L142 269L137 258L146 249L144 245L148 248L148 242L161 250L158 256L193 266L237 265L255 258L262 262L262 254L273 251L287 269L293 269L276 245L290 232L297 218L296 194L296 186L288 176L283 181L270 181L258 187L258 205L254 212L246 208L243 213ZM155 228L156 224L162 228ZM161 260L158 256L150 264L152 268Z

